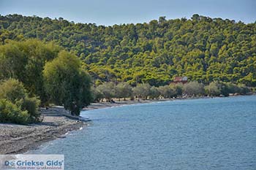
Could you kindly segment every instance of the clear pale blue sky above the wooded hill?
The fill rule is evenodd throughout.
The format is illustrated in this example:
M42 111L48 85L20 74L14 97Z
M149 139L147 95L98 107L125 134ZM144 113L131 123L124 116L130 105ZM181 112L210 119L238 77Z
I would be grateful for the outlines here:
M256 0L0 0L0 15L37 15L112 26L166 19L211 18L255 23Z

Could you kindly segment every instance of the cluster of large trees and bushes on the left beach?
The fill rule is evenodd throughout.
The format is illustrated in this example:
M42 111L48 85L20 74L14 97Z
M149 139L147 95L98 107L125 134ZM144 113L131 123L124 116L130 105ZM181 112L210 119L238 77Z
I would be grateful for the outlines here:
M36 39L0 45L0 122L39 121L39 104L79 115L91 102L91 79L80 59Z

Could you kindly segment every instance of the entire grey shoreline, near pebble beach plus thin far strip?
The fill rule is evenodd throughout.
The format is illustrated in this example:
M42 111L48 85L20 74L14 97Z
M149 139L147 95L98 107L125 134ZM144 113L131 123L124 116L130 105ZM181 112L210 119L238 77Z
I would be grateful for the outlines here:
M255 94L252 94L255 95ZM229 96L236 97L236 96ZM147 104L162 101L177 101L212 97L194 97L194 98L162 98L140 101L115 101L92 103L83 111L92 109L104 109L110 107L121 107L132 104ZM214 97L216 98L216 97ZM44 117L42 123L30 125L17 125L14 123L0 123L0 155L18 154L28 150L34 150L42 143L49 142L58 138L65 138L69 131L76 131L83 126L89 125L86 118L69 115L69 112L62 107L53 107L50 109L41 109Z

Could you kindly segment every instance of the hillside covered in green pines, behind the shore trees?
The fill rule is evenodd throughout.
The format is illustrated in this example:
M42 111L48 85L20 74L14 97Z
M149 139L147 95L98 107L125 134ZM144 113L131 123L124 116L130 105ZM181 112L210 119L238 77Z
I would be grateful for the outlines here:
M0 43L56 42L101 82L166 85L175 76L256 86L256 23L193 15L149 23L96 26L59 19L0 16Z

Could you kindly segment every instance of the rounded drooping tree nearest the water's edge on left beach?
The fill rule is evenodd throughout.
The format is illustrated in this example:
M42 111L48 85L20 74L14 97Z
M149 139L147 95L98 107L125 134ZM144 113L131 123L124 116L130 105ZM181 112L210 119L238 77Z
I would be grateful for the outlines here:
M58 57L45 64L43 71L45 90L50 101L64 105L72 115L91 102L90 77L81 69L79 59L61 51Z

